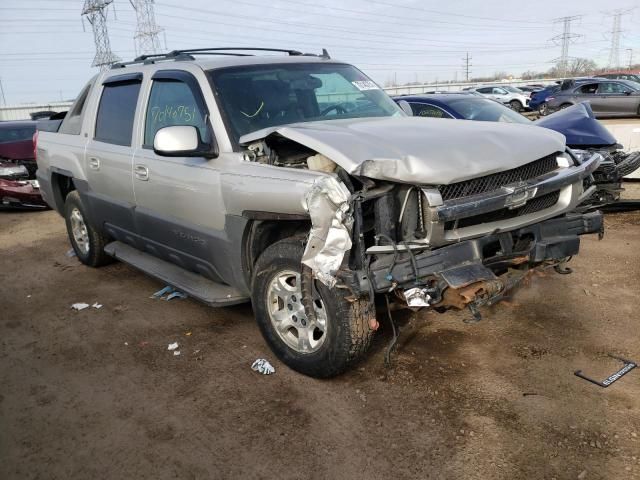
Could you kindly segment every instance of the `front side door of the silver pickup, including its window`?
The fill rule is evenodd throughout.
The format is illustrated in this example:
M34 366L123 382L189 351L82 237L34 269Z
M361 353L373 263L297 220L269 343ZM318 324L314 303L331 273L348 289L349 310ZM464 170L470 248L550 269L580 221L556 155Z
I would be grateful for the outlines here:
M142 122L142 148L133 159L136 226L143 249L171 263L221 281L219 259L224 233L220 172L204 157L168 157L153 150L156 132L190 125L205 142L213 140L209 113L196 78L160 70L151 80Z

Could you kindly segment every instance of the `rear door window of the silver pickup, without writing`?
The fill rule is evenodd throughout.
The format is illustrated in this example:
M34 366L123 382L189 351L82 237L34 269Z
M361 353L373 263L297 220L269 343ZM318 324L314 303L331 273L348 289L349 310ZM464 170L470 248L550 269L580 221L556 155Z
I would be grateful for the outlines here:
M96 140L115 145L131 145L139 93L140 81L104 85L96 117Z

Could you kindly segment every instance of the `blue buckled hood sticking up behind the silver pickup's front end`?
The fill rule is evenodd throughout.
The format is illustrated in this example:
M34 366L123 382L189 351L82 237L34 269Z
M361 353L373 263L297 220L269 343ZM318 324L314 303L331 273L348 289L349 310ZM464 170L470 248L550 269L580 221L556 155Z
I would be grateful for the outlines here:
M616 139L602 123L596 120L589 102L536 120L535 125L562 133L571 148L608 147L616 144Z

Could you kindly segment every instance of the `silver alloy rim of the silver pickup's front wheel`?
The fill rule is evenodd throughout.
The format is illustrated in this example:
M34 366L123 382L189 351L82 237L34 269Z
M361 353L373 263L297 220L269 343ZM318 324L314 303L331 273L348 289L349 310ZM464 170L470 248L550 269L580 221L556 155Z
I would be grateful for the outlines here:
M313 295L316 319L310 321L302 305L300 273L279 272L267 292L269 318L280 339L297 353L316 352L327 337L327 311L318 293Z

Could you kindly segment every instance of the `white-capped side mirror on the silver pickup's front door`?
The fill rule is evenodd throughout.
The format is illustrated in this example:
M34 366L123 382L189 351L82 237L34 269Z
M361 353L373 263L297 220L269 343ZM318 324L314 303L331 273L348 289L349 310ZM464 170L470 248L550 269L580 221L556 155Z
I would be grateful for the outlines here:
M164 127L156 132L153 151L163 157L205 157L218 156L215 141L204 143L200 132L191 125Z

